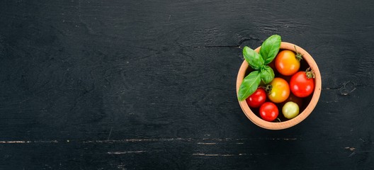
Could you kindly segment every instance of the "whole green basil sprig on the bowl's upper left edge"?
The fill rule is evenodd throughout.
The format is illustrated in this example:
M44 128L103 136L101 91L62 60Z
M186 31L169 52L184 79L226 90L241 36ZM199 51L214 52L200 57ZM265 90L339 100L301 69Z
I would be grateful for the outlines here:
M266 39L257 53L250 47L243 48L243 56L249 66L254 69L249 73L239 87L238 99L244 99L251 96L261 83L268 84L274 79L274 72L267 64L271 63L279 52L281 38L279 35L271 35Z

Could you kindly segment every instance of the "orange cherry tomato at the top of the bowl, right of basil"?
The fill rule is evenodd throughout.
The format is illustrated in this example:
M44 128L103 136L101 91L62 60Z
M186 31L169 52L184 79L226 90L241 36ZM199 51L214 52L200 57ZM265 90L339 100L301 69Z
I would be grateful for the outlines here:
M300 69L300 60L297 59L295 52L283 50L276 56L276 69L280 74L290 76Z

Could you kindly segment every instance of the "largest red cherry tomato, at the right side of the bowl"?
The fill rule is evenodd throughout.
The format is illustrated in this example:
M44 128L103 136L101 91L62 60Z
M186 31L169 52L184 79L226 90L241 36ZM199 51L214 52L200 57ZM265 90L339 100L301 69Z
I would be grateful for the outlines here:
M307 72L297 72L291 77L290 89L297 97L307 97L314 91L314 79L307 77Z

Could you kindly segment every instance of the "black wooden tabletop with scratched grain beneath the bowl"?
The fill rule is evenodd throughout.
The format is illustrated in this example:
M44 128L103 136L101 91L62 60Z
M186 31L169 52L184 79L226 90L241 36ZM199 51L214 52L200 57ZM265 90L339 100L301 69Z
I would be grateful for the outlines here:
M374 169L374 1L0 1L0 169ZM322 94L246 118L242 47L278 34Z

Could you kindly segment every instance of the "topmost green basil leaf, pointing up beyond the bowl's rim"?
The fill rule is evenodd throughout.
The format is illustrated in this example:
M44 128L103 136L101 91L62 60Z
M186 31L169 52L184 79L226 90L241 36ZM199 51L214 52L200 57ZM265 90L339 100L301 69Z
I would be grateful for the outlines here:
M281 38L279 35L271 35L266 39L260 49L260 55L263 57L265 64L271 63L279 52Z

